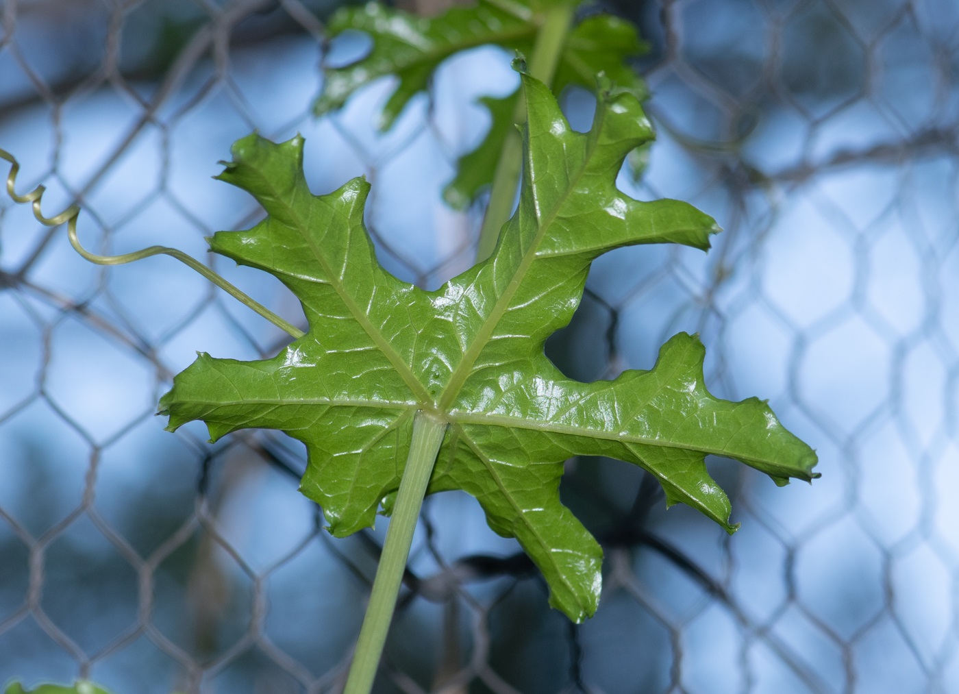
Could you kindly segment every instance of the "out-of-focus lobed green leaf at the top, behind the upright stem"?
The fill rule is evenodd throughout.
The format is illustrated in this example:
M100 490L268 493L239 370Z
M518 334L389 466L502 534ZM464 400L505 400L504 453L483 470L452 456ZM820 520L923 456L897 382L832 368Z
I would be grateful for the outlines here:
M453 54L483 44L530 53L538 30L536 12L543 7L542 3L479 0L475 7L455 7L433 18L374 2L343 8L330 20L329 35L350 29L365 32L373 39L373 50L351 65L325 70L323 90L314 104L316 115L339 108L365 84L395 75L398 84L380 121L386 129L409 100L427 88L439 63ZM553 93L558 97L571 85L593 91L596 75L605 73L620 89L633 93L642 102L648 96L645 82L625 59L646 50L646 44L628 21L605 13L588 16L566 38L552 81ZM503 141L513 127L519 93L517 89L500 99L479 100L490 111L491 125L477 149L457 162L456 177L443 193L453 207L466 207L484 186L492 183Z

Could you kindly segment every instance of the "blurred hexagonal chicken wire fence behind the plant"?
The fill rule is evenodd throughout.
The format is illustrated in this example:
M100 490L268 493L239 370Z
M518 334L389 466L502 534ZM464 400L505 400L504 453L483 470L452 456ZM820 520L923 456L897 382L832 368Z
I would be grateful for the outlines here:
M381 263L433 289L475 250L481 201L460 213L439 196L487 127L475 99L516 77L480 48L386 133L373 124L388 81L316 120L321 62L363 52L360 36L325 41L335 4L0 2L0 147L23 165L17 192L46 185L48 215L80 202L94 250L179 247L302 325L272 278L203 242L262 219L209 178L229 144L300 131L314 192L365 174ZM667 512L636 468L569 461L563 500L606 556L599 610L579 626L473 499L430 497L377 686L959 692L959 4L595 9L651 43L636 65L659 140L620 187L689 200L725 232L708 256L604 256L548 353L573 378L612 378L698 331L713 392L770 398L823 477L777 489L711 461L742 523L729 538ZM590 96L565 108L588 127ZM194 350L258 359L284 335L170 259L90 266L64 237L0 203L0 681L339 691L385 523L323 531L296 492L304 451L282 434L211 446L152 416Z

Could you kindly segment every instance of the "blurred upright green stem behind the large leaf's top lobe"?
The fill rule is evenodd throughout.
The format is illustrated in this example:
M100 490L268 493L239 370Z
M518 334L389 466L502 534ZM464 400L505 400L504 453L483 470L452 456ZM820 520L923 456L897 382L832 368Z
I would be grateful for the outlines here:
M573 23L574 10L573 5L564 3L551 8L546 13L539 34L536 35L533 57L529 60L529 74L537 80L546 84L552 82L563 44L566 42L566 35ZM516 102L513 122L518 126L526 123L526 100L523 98L522 89ZM503 150L500 150L500 161L496 165L496 174L493 176L493 189L490 192L486 216L482 220L482 228L479 231L478 263L489 258L496 248L500 229L513 211L516 187L520 183L522 171L523 138L516 128L510 128L503 142Z

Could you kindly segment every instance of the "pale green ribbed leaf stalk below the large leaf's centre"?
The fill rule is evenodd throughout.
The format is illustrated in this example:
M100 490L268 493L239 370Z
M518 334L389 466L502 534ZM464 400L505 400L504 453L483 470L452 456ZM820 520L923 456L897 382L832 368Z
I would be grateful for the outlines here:
M409 558L409 545L419 520L420 506L426 496L427 484L433 474L436 454L446 433L446 420L430 412L419 410L413 419L413 435L409 444L407 467L400 480L393 516L386 530L386 543L376 569L373 591L369 596L363 627L357 640L350 674L343 694L369 694L373 688L380 656L386 643L386 633L396 608L396 596Z

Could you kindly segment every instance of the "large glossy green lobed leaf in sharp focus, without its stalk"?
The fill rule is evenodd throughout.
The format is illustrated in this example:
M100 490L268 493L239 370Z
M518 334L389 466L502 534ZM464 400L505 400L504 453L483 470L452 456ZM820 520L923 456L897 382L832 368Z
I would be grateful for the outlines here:
M373 523L399 487L413 414L450 427L430 493L465 490L490 527L516 537L550 584L550 604L579 621L596 610L601 551L559 501L563 461L603 455L639 465L728 531L730 504L707 473L708 454L776 479L811 479L816 455L756 398L714 398L704 348L674 335L649 371L574 382L544 354L569 323L592 261L624 245L701 249L714 221L676 200L640 202L617 190L626 153L651 137L634 94L606 84L588 133L573 131L550 89L523 77L528 105L519 208L489 260L425 291L376 262L363 226L369 185L355 178L314 196L303 140L237 142L222 180L269 217L220 232L211 248L266 270L292 289L307 335L273 359L201 354L160 402L170 429L203 420L211 439L275 428L306 444L301 491L338 537Z

